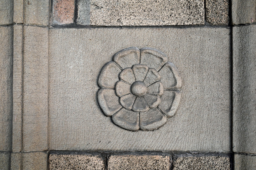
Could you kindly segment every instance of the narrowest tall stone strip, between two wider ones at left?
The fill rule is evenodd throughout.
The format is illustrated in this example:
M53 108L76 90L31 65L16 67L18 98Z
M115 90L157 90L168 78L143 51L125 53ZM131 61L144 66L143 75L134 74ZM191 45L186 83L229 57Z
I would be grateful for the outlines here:
M22 148L22 84L23 84L23 26L13 26L13 75L12 75L12 152Z

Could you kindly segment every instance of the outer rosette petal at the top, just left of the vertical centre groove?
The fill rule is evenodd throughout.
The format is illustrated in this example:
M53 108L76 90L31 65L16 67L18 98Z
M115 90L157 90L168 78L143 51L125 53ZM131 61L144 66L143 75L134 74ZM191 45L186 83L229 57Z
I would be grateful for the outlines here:
M139 48L130 47L117 52L113 60L122 68L132 67L132 65L139 64L140 51Z

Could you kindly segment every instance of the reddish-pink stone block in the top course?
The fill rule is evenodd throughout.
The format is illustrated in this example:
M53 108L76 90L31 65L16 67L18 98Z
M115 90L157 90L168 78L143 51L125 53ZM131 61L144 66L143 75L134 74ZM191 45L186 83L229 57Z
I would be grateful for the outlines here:
M72 24L75 18L75 0L53 0L52 24Z

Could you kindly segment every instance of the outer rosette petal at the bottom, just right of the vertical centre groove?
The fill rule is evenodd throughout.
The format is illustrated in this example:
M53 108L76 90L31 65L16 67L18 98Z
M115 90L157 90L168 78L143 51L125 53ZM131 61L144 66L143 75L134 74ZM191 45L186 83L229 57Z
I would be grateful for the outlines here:
M139 127L141 130L155 130L166 123L166 116L157 108L150 109L148 112L140 113Z

